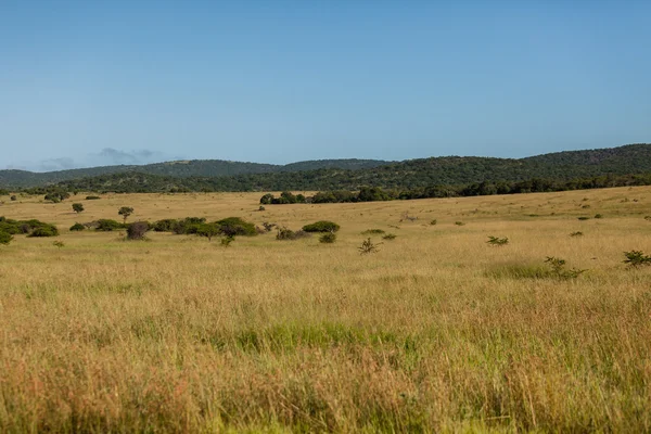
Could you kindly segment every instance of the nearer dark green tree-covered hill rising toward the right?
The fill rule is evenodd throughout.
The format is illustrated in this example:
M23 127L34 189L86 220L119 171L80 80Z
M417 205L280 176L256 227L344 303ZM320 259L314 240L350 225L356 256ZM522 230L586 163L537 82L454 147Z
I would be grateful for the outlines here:
M118 174L67 180L61 182L60 186L68 191L116 192L359 190L363 186L411 190L431 186L467 186L499 180L564 181L604 175L650 174L651 144L558 152L520 159L449 156L391 164L373 161L339 161L346 162L340 164L344 168L336 167L337 165L332 162L337 161L296 163L289 165L291 167L286 168L288 171L279 169L279 167L286 166L271 166L273 168L266 173L245 173L219 177L190 175L192 173L209 174L207 167L213 166L208 162L189 162L188 164L194 166L194 171L182 170L181 168L186 167L183 163L158 164L137 168L129 167L129 170ZM371 167L366 167L366 165ZM373 167L373 165L375 166ZM142 167L151 166L155 166L150 168L151 171L155 171L154 174L140 171ZM204 167L205 170L201 171L201 167ZM316 169L301 170L301 168L311 167L316 167ZM349 167L356 168L350 169ZM239 169L232 171L237 170ZM228 171L222 169L221 173ZM5 186L0 184L0 187Z

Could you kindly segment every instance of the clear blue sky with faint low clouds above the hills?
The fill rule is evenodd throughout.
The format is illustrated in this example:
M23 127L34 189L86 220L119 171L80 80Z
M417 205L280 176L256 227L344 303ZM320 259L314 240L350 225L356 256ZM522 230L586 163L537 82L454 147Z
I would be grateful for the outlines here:
M0 0L0 168L651 142L651 1Z

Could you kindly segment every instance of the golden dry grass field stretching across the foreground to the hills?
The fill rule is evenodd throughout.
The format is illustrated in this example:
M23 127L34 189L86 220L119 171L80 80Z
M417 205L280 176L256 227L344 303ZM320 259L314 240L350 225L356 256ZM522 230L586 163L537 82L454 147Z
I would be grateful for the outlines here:
M651 431L651 267L622 263L651 253L651 188L258 212L260 195L1 197L65 245L0 246L0 432ZM228 248L67 230L124 205L342 230ZM362 256L373 228L397 238ZM588 271L535 278L547 256Z

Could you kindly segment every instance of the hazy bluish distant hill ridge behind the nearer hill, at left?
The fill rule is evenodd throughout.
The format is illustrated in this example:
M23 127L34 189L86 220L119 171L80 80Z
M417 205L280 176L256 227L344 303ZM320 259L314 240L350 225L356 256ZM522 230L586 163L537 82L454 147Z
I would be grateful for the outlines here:
M142 166L101 166L82 169L34 173L27 170L0 170L0 187L29 188L54 184L102 175L139 173L177 178L228 177L247 174L315 170L320 168L360 169L378 167L390 162L379 159L316 159L286 165L228 162L224 159L192 159L154 163Z

